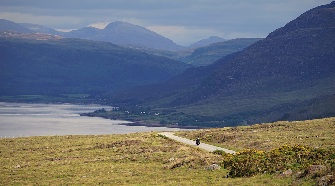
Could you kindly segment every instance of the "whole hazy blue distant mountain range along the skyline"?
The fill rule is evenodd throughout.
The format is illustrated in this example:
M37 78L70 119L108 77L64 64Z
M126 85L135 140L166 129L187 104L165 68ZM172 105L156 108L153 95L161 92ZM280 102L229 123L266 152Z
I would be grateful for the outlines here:
M48 33L68 38L73 37L95 41L108 41L114 44L139 45L156 50L169 51L203 47L214 42L226 40L221 37L211 36L207 39L197 41L189 47L183 47L147 28L122 21L112 22L104 29L88 26L70 32L60 32L39 24L14 23L9 20L0 19L0 30L13 30L21 33Z

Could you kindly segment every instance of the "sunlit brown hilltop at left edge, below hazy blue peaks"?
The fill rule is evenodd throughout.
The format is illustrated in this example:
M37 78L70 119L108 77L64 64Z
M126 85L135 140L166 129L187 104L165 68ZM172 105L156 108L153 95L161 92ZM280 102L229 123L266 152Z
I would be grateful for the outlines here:
M47 33L20 33L12 30L0 30L0 37L20 37L37 40L59 40L64 38L59 35L52 35Z

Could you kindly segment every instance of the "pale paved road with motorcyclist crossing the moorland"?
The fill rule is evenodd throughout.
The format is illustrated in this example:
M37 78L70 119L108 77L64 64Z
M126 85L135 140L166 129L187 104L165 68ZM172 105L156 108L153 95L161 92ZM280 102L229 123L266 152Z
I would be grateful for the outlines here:
M236 153L235 151L232 151L232 150L224 149L224 148L221 148L221 147L216 147L216 146L213 146L213 145L204 144L202 142L200 142L199 146L197 146L197 144L195 144L195 140L175 136L175 135L173 135L174 134L173 132L161 132L161 133L158 133L158 134L165 135L165 136L167 136L171 139L177 140L178 142L183 142L184 144L199 147L199 148L204 149L206 151L213 152L213 151L215 151L215 149L217 149L217 150L223 150L224 152L230 153L230 154Z

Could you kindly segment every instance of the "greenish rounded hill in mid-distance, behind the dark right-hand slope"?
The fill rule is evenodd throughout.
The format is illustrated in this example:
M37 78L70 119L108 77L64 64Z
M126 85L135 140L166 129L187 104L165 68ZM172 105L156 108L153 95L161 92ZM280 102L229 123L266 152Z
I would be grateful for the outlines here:
M239 38L223 42L215 42L194 50L190 56L184 58L184 61L195 67L209 65L223 56L241 51L261 39L263 38Z

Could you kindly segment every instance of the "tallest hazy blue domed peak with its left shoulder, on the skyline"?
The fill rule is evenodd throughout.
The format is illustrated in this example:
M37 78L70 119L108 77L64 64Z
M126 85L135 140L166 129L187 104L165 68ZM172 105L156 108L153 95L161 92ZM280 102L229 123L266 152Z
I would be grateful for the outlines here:
M78 37L95 41L108 41L115 44L133 44L153 49L177 51L185 49L156 32L142 26L122 21L109 23L104 29L84 27L64 34L64 37Z

